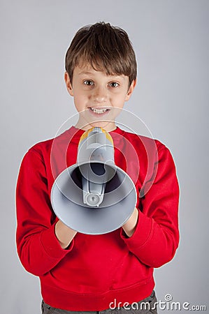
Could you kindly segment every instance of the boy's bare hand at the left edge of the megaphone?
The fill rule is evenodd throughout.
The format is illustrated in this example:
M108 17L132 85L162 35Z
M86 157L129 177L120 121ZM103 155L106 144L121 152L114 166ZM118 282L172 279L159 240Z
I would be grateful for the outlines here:
M67 248L75 237L77 231L67 227L61 220L58 220L55 225L55 234L62 248Z

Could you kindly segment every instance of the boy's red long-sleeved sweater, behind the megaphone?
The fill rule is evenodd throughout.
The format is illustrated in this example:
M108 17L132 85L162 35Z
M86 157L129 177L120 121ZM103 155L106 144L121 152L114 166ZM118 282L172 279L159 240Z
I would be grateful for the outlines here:
M122 228L101 235L77 233L62 249L50 191L56 177L76 163L84 131L74 127L31 147L17 180L17 252L27 271L40 277L44 301L69 311L103 311L149 296L153 268L169 262L178 247L179 188L173 158L157 140L110 132L115 164L133 179L138 223L131 237Z

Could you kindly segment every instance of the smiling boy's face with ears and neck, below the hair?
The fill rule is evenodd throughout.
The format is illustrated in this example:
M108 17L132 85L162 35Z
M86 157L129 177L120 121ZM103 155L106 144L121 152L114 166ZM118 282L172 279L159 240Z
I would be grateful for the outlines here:
M106 75L105 71L92 66L76 66L73 82L65 73L66 87L73 96L79 112L78 128L87 130L99 126L107 131L115 129L115 117L134 91L136 81L129 87L129 77Z

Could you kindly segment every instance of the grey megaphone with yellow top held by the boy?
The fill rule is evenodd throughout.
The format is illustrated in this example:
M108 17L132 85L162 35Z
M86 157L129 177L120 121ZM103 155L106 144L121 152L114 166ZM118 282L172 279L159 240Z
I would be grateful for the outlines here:
M50 199L59 220L84 234L106 234L129 219L136 188L115 165L110 133L95 127L82 134L77 163L55 179Z

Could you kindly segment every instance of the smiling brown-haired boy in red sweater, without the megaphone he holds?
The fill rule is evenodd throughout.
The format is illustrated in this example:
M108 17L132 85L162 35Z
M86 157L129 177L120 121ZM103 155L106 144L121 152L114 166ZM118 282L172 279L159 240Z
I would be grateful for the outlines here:
M66 53L64 79L79 119L62 135L31 147L22 160L17 181L20 260L40 277L44 314L117 312L127 304L138 304L137 313L157 313L153 269L170 261L178 248L179 189L164 144L115 126L136 86L136 58L127 33L103 22L80 29ZM100 235L67 227L50 203L56 177L76 163L80 136L94 126L110 132L115 164L129 173L138 193L129 220Z

